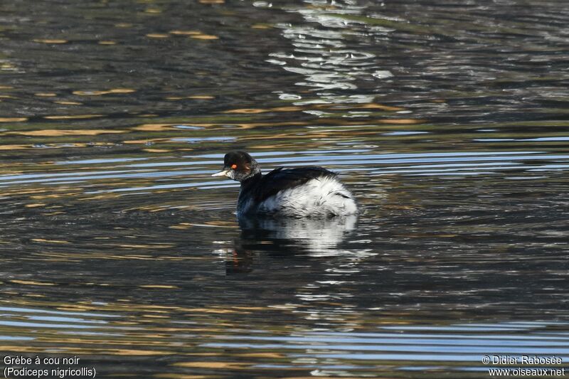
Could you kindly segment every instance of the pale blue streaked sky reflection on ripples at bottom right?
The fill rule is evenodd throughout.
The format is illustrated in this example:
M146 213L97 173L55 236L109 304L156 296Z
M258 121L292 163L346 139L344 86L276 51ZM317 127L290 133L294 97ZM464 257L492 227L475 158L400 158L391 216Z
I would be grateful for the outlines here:
M567 367L568 338L563 323L506 322L497 324L381 326L377 331L305 331L281 336L263 333L219 336L203 346L213 351L285 351L280 367L312 369L312 375L381 375L390 370L440 370L486 374L485 355L557 356ZM413 364L411 364L413 362ZM277 364L277 363L275 363ZM556 367L557 368L557 367Z

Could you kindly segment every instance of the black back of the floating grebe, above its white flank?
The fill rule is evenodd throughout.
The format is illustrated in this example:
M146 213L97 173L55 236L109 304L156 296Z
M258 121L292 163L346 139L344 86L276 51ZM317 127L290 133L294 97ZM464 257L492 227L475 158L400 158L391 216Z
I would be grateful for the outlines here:
M251 183L251 196L261 202L276 195L280 191L296 186L302 186L311 179L335 178L337 174L321 167L300 167L298 169L283 169L279 167Z

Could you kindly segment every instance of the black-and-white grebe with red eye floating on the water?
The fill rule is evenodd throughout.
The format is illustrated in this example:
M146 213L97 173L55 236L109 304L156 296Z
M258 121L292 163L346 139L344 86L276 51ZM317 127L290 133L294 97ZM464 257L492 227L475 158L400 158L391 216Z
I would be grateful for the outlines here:
M232 151L225 154L223 170L213 176L227 176L241 183L238 215L329 218L358 213L350 191L336 174L321 167L280 167L262 175L249 154Z

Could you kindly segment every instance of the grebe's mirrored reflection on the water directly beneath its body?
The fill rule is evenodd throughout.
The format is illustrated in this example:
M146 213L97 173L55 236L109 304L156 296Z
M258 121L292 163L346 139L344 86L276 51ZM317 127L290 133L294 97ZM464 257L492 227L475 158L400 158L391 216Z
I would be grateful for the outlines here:
M340 243L355 228L356 215L329 219L241 217L240 237L226 273L251 272L255 255L270 257L330 257L345 250Z

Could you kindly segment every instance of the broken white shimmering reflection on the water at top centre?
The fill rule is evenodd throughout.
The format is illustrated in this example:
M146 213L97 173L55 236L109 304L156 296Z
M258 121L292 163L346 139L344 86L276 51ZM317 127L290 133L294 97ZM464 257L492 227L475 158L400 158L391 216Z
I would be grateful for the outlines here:
M342 16L358 16L366 6L354 1L306 1L298 6L287 5L287 11L295 11L304 17L302 24L278 24L282 28L282 36L291 40L294 53L271 53L267 62L282 65L282 68L304 75L305 81L296 84L326 92L357 90L358 82L384 80L393 77L389 70L378 67L375 53L358 48L353 40L366 41L374 34L385 34L387 28L371 27L366 30L358 23L342 18ZM349 25L351 23L351 25ZM318 25L319 24L319 25ZM314 25L314 26L313 26ZM349 28L346 28L349 26ZM354 99L361 97L361 92ZM326 97L331 102L340 101L343 96Z

